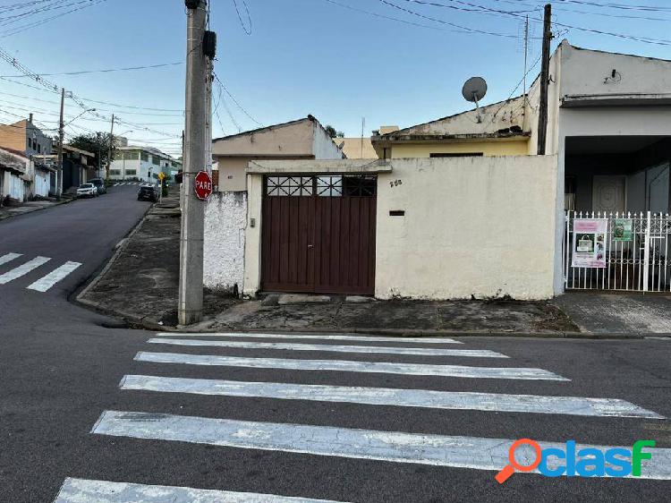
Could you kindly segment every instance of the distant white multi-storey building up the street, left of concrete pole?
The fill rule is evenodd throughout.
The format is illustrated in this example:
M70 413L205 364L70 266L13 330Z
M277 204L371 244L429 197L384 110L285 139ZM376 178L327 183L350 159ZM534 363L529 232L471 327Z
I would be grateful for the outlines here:
M167 180L172 180L181 169L181 162L158 149L140 146L117 147L109 169L109 178L157 183L160 173L165 173L168 175Z

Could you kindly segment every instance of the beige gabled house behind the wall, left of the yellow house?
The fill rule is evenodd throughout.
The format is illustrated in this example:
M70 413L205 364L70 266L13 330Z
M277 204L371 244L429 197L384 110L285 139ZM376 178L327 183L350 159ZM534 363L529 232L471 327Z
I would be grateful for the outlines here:
M218 165L218 190L245 191L245 169L255 159L344 158L327 131L312 115L284 124L232 134L212 141L212 158Z

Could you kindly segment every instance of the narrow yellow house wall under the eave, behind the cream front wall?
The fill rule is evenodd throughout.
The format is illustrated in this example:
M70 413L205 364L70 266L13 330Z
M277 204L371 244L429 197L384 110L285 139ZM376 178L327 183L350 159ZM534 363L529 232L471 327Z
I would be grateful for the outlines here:
M484 156L524 156L528 139L515 141L463 141L450 143L398 143L392 147L392 158L428 158L432 153L463 154L482 152Z

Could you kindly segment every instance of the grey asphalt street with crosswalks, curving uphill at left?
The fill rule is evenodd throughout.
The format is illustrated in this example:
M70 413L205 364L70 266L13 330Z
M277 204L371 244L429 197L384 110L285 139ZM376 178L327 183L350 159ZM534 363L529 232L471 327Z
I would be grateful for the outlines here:
M51 259L0 285L3 502L52 502L59 490L59 503L291 501L218 491L380 503L668 500L671 427L660 416L671 416L669 339L455 343L104 328L106 318L67 297L147 207L132 187L116 187L0 224L0 257L22 254L0 275ZM27 288L66 261L82 265L46 292ZM654 439L659 450L641 479L515 473L499 485L506 453L496 440L521 438L630 448ZM125 499L109 496L119 490Z

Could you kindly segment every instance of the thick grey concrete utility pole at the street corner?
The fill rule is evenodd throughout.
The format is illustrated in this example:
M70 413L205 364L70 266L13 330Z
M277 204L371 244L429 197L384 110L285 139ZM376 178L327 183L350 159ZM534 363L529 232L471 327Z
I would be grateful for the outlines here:
M186 44L186 129L183 165L182 234L180 237L180 285L177 314L181 325L200 321L203 310L203 236L205 202L195 195L196 174L206 168L209 139L206 104L208 62L204 52L207 0L185 0Z

